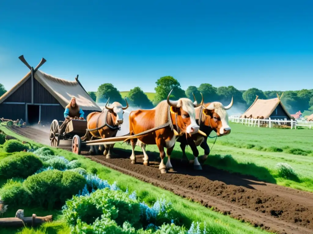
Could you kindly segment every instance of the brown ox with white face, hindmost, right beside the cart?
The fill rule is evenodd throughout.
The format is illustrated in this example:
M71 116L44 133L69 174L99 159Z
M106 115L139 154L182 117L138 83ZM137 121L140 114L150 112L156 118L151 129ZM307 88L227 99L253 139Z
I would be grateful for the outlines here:
M128 108L126 101L126 107L123 107L119 102L113 102L110 106L107 106L109 100L105 104L107 110L100 112L92 112L87 116L87 128L95 129L90 131L93 138L108 138L115 137L120 125L123 123L124 110ZM103 155L106 158L110 158L114 155L113 147L115 144L103 144L99 146L99 150L103 151ZM105 148L105 149L103 149ZM90 145L90 154L95 154L97 151L96 146Z

